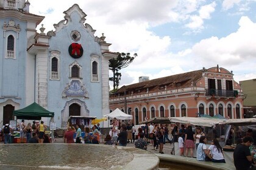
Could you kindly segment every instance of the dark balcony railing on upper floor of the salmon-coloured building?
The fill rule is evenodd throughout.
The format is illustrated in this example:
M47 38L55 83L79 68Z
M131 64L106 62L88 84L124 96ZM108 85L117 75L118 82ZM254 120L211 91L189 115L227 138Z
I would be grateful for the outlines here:
M213 97L237 97L237 90L217 90L217 89L206 89L206 96Z

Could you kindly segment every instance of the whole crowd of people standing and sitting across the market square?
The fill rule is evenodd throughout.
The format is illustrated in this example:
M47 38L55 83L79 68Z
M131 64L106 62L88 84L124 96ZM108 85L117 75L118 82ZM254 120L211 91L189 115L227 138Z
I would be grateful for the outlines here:
M21 141L24 137L27 143L50 143L49 136L45 134L46 126L43 121L33 121L25 123L24 120L18 125L20 129ZM10 143L10 130L13 129L9 124L2 127L4 143ZM160 154L164 154L163 147L165 143L178 143L180 156L193 157L196 151L196 159L198 161L212 161L215 163L226 163L223 148L219 144L219 140L214 137L212 141L207 142L207 136L204 129L200 126L186 126L185 124L153 124L147 123L144 128L135 128L132 122L119 123L116 118L113 119L112 127L105 136L103 144L127 146L127 143L134 143L135 148L148 149L148 145L152 146L152 150L159 149ZM137 135L135 133L138 131ZM249 129L244 137L237 138L236 148L233 152L234 165L237 170L252 168L254 163L255 148L252 149L252 131ZM79 124L69 126L64 134L64 143L101 143L101 127L95 124L84 128L84 135ZM208 147L207 147L208 144ZM173 147L174 148L174 147ZM171 151L173 154L173 150ZM190 154L190 155L189 155Z

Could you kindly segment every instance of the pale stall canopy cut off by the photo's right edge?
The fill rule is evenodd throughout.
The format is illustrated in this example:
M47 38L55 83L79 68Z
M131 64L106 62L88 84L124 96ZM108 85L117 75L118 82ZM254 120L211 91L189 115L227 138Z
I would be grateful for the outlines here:
M219 124L245 126L245 125L256 124L256 118L227 119L227 120L222 120Z

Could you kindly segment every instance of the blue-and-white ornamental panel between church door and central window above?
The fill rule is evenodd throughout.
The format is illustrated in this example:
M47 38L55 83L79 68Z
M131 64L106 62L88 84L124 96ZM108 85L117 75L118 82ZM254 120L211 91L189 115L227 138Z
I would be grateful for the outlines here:
M88 98L88 92L79 80L71 80L68 87L62 92L62 97Z

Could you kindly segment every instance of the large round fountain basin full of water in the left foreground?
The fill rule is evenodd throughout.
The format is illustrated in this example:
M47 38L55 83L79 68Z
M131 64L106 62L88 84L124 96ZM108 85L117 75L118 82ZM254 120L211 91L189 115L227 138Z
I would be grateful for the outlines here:
M155 154L104 144L1 144L0 169L157 169Z

